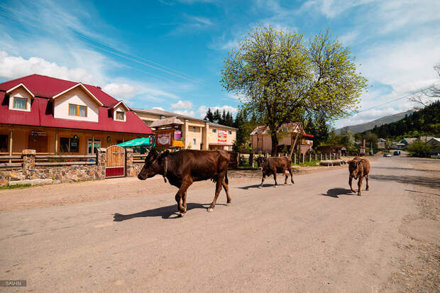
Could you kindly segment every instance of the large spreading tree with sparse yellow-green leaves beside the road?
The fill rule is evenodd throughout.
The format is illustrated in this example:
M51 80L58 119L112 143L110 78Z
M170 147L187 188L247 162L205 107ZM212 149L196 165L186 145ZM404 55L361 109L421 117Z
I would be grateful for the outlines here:
M221 83L243 96L243 111L269 126L272 155L283 123L343 118L356 110L367 85L350 50L331 40L328 31L307 42L300 33L271 26L257 26L229 52Z

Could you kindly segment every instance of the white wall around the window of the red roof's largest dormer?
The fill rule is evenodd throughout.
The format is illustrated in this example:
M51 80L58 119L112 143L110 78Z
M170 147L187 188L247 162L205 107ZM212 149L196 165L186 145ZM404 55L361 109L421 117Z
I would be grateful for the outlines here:
M70 116L69 104L87 106L87 117ZM99 105L87 92L84 92L84 89L75 87L75 89L55 98L53 116L62 119L98 122Z

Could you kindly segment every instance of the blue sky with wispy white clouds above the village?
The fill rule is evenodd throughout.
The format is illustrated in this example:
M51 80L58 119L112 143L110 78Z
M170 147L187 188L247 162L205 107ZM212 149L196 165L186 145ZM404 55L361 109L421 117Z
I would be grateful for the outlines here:
M409 109L390 101L440 82L439 11L437 0L2 1L0 81L39 73L137 108L235 112L238 97L219 83L223 58L256 23L307 38L330 28L370 84L363 111L335 123L346 126Z

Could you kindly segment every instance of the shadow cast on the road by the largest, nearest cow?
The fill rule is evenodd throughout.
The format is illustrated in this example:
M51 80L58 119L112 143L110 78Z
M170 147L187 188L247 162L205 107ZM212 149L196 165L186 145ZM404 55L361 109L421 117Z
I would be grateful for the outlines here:
M223 204L216 204L216 206L221 206ZM209 204L187 204L187 211L192 209L207 209ZM177 204L173 204L172 206L163 206L157 209L148 209L147 211L140 211L136 214L118 214L115 213L113 216L113 221L121 222L126 221L133 218L143 218L148 216L161 216L162 219L176 219L180 217L179 212L177 211Z

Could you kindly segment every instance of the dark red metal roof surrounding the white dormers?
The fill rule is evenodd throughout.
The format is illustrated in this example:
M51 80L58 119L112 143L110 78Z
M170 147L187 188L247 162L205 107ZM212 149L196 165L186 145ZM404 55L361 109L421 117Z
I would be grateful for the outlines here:
M9 110L9 97L6 91L23 83L33 94L35 99L31 104L31 111ZM49 103L52 96L59 94L73 87L76 82L46 77L44 75L32 74L27 77L13 79L0 84L0 123L45 126L57 128L74 128L94 131L114 131L123 133L153 134L149 128L133 111L126 112L126 121L115 121L109 116L109 107L119 101L109 94L106 94L98 87L84 84L104 106L99 107L99 122L75 121L69 119L55 118L53 109Z

